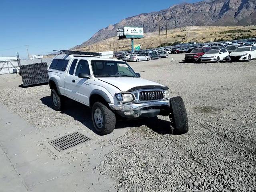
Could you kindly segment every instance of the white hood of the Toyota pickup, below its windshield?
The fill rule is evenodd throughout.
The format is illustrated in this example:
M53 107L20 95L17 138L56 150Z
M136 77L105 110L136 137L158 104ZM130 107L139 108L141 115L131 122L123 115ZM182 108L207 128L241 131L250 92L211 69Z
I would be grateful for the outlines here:
M126 92L138 86L163 86L159 83L152 82L142 78L132 77L99 77L99 80L112 84L118 87L122 92ZM164 86L163 86L164 87Z

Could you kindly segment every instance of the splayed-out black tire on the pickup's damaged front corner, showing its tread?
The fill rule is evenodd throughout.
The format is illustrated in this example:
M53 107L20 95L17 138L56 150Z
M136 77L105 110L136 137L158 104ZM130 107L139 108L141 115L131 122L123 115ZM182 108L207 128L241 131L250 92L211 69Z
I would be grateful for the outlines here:
M188 116L184 102L181 97L170 98L169 115L175 134L185 134L188 132Z

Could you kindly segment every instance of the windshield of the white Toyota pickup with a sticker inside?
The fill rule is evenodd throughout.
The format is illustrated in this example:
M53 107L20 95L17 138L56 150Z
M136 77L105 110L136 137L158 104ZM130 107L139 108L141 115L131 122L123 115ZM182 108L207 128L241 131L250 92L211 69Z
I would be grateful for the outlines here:
M92 60L95 77L138 77L126 62Z

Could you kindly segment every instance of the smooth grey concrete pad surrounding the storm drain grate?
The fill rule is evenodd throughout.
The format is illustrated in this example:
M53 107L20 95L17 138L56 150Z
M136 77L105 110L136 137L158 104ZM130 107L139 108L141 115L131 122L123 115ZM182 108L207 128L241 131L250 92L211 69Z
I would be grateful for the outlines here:
M0 177L0 184L23 184L25 189L36 192L114 189L114 181L102 180L94 168L112 149L108 141L122 136L126 129L116 129L107 136L98 136L86 126L80 128L67 125L39 129L1 104L0 116L1 159L6 154L9 159L9 162L5 162L9 167L4 168L1 173L11 175L8 178ZM92 140L72 151L59 153L48 143L48 140L74 131L79 131ZM12 186L7 185L6 190L10 191L9 188L12 189Z

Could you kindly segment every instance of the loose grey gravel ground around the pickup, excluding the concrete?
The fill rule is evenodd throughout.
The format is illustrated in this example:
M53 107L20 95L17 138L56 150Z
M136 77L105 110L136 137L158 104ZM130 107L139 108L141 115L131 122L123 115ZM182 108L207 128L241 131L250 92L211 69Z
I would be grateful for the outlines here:
M174 61L171 62L171 57ZM118 122L130 127L97 169L117 191L256 191L256 60L183 63L184 55L129 63L142 78L182 96L190 130L173 135L164 116ZM40 128L92 128L90 110L76 102L55 112L48 85L22 88L2 80L0 102Z

